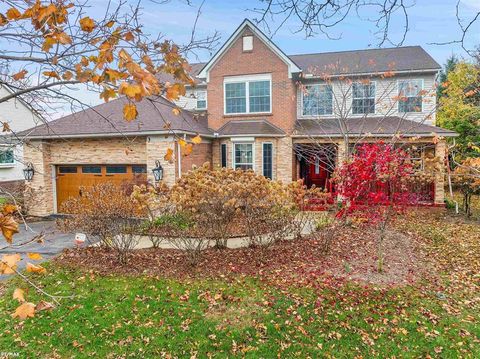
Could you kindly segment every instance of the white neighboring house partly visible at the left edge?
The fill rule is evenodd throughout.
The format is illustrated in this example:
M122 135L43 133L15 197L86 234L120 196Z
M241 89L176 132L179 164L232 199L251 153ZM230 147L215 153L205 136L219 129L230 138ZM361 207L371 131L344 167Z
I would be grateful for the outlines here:
M0 85L0 98L11 91ZM13 191L24 182L23 144L17 134L41 123L40 116L24 101L0 103L0 191Z

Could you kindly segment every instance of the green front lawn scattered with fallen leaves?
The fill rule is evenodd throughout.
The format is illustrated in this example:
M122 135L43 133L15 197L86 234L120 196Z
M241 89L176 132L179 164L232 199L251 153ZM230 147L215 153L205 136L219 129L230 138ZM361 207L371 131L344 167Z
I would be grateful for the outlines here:
M62 300L20 324L18 279L0 299L0 350L29 358L480 356L480 313L435 293L331 284L317 292L254 278L180 282L50 267L35 279ZM30 290L29 301L44 299Z

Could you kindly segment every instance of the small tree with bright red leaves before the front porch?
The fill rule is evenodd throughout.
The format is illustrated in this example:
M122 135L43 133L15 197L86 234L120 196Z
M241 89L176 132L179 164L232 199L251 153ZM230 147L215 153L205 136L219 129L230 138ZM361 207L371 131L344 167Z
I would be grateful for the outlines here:
M401 148L383 142L363 144L335 171L341 208L336 217L353 219L379 231L378 271L383 271L388 226L407 206L418 204L408 186L414 168Z

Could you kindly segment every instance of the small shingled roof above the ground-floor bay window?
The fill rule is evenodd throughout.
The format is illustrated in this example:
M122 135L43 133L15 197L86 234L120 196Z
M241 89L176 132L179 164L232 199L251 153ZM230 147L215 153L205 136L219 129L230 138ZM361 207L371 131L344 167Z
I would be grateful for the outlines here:
M284 136L285 132L267 120L234 120L224 124L218 131L219 137L232 136Z

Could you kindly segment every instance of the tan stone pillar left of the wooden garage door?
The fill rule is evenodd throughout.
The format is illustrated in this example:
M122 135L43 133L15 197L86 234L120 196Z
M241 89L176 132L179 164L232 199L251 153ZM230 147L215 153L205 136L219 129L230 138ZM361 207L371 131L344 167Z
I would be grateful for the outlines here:
M54 213L53 174L47 142L30 141L23 147L25 164L31 162L35 174L25 181L25 210L31 216L48 216Z

